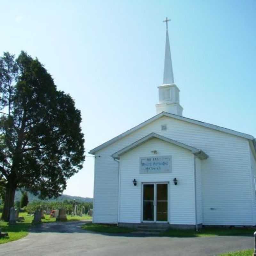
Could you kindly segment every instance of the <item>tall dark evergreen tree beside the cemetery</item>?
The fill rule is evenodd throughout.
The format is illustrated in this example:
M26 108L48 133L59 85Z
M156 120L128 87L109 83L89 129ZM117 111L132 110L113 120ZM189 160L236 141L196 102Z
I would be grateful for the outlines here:
M81 113L58 91L38 59L21 52L0 58L0 178L2 219L8 221L16 188L42 199L57 197L84 161Z

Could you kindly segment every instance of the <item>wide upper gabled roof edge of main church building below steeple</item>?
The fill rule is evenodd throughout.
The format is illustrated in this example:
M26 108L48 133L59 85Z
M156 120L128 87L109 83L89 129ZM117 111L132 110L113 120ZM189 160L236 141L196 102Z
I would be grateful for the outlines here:
M111 140L108 140L107 142L101 144L100 146L98 146L96 148L93 148L89 152L89 154L94 155L94 153L97 152L98 150L100 150L102 148L105 148L108 145L116 142L117 140L120 140L120 139L124 138L125 136L131 134L132 132L135 132L135 131L139 130L140 128L144 127L147 124L150 124L150 123L154 122L155 120L161 118L162 116L172 117L174 119L185 121L185 122L188 122L188 123L191 123L191 124L197 124L197 125L204 126L204 127L207 127L207 128L213 129L213 130L217 130L217 131L220 131L220 132L226 132L226 133L236 135L236 136L248 139L248 140L252 140L253 145L254 145L254 149L256 151L255 138L252 135L242 133L242 132L236 132L234 130L230 130L230 129L220 127L220 126L217 126L217 125L214 125L214 124L204 123L204 122L197 121L197 120L194 120L194 119L190 119L190 118L187 118L187 117L184 117L184 116L178 116L178 115L167 113L167 112L161 112L160 114L158 114L156 116L153 116L153 117L149 118L148 120L146 120L145 122L133 127L132 129L130 129L130 130L124 132L124 133L121 133L120 135L116 136L115 138L113 138Z

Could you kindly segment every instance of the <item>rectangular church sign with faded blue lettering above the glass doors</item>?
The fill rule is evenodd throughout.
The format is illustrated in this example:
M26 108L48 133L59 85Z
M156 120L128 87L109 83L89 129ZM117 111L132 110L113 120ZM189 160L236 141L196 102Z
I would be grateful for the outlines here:
M140 157L140 173L172 172L172 156Z

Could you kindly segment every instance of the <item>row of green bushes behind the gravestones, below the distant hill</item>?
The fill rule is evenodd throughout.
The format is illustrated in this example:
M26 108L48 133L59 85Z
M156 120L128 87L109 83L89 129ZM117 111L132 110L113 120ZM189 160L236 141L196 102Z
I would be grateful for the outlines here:
M29 203L26 206L26 211L28 213L33 213L36 211L36 209L43 208L43 210L49 209L49 210L54 210L54 209L66 209L67 214L71 214L74 210L73 206L73 201L34 201L32 203ZM77 208L78 210L81 211L82 207L84 206L85 208L85 213L88 212L89 209L92 209L92 203L80 203L77 202Z

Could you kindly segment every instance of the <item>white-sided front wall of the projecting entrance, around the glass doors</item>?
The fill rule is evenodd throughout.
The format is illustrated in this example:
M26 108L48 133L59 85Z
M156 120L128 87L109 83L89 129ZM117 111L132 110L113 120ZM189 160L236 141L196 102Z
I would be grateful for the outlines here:
M158 154L152 154L156 150ZM171 173L140 174L140 157L171 156ZM142 221L143 182L169 182L168 221L170 224L195 225L194 166L193 154L184 148L158 139L152 139L127 152L120 158L121 191L119 222L140 223ZM178 179L174 185L173 179ZM132 180L137 180L134 186Z

